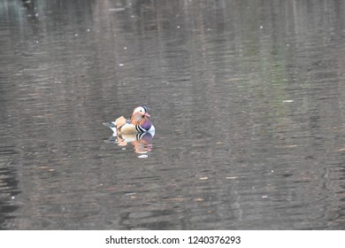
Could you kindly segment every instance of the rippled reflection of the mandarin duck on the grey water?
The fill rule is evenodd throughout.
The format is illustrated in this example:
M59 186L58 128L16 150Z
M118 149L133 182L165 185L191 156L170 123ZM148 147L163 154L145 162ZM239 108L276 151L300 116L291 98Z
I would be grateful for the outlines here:
M122 147L126 147L128 143L131 143L133 145L134 152L138 154L138 158L149 158L150 151L152 151L152 139L154 136L155 132L131 135L119 135L113 133L108 142L117 143Z

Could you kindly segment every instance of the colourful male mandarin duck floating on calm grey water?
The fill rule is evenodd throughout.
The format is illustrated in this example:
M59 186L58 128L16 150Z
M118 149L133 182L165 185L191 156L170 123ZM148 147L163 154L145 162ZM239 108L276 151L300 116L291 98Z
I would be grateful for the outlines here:
M148 108L145 106L139 106L134 108L131 119L126 120L121 116L111 123L103 123L104 126L111 128L115 134L130 135L137 133L154 133L155 127L149 121Z

